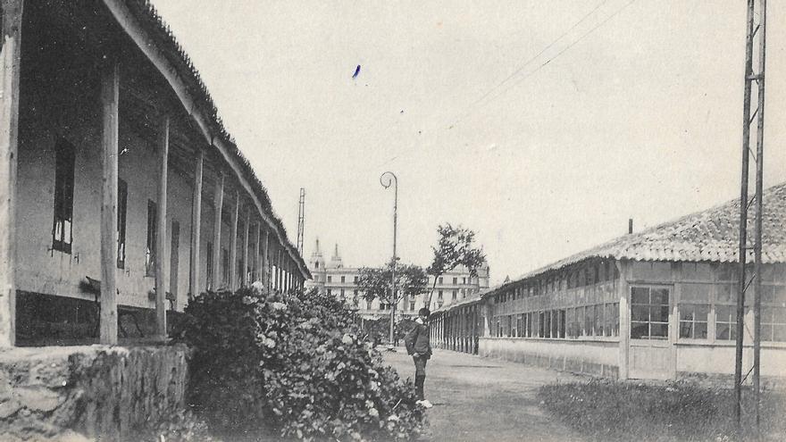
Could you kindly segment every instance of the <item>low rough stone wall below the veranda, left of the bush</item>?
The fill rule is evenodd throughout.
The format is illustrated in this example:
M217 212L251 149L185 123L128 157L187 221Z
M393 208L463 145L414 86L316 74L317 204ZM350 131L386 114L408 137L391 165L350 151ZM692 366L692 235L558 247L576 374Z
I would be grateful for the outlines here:
M184 406L184 346L0 349L0 440L130 438Z

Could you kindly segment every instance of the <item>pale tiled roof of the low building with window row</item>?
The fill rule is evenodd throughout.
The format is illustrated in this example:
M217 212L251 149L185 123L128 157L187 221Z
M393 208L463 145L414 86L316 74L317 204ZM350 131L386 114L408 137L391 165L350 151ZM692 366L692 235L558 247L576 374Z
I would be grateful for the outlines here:
M784 229L786 183L766 188L763 205L762 262L786 263L786 229ZM748 245L751 246L748 250L749 261L753 260L755 220L754 204L751 204L748 210ZM612 239L600 246L525 273L515 280L527 279L546 271L555 271L589 258L736 263L739 242L740 200L738 198L639 233Z

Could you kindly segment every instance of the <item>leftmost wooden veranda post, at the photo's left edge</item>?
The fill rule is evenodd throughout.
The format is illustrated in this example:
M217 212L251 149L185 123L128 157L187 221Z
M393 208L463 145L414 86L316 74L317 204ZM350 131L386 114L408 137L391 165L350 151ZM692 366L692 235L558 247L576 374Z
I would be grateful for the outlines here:
M3 0L0 50L0 347L13 346L16 284L15 202L22 0Z

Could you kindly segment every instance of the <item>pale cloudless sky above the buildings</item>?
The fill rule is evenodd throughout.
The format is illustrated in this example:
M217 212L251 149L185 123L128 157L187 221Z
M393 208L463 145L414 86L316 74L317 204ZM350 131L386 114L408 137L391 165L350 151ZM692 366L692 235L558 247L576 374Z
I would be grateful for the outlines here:
M307 260L427 266L476 232L498 284L739 197L728 0L155 0ZM758 17L757 17L758 20ZM767 11L765 186L786 181L786 4ZM353 78L355 68L361 66ZM753 169L751 169L751 176Z

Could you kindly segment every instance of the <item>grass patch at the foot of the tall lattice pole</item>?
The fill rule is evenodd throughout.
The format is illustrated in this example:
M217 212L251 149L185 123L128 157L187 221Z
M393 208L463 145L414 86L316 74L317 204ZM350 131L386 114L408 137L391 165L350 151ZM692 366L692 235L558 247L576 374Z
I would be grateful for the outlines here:
M690 382L651 385L593 379L557 383L538 392L560 421L602 441L726 441L736 439L734 390ZM786 440L786 396L762 395L764 440ZM753 438L753 395L743 392L743 437ZM747 437L746 437L747 436Z

